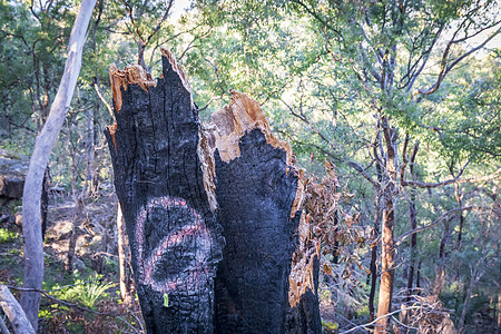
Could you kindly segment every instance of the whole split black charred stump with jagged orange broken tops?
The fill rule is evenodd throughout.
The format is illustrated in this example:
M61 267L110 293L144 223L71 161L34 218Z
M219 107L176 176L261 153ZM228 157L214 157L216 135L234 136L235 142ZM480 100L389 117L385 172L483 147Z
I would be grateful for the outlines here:
M291 147L238 92L203 126L167 50L163 65L157 82L111 67L106 131L148 333L321 333Z

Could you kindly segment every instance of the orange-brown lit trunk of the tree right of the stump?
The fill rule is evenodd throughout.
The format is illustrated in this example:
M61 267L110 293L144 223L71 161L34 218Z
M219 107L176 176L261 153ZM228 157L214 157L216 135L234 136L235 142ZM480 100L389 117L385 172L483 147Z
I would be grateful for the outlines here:
M390 127L389 120L383 118L383 134L386 144L386 174L387 184L384 188L384 208L382 226L382 249L381 249L381 284L377 304L377 317L390 313L393 297L393 283L395 276L394 256L395 245L393 232L395 227L395 194L396 194L396 151L394 144L396 132ZM389 317L382 317L376 322L375 333L386 333L390 324Z

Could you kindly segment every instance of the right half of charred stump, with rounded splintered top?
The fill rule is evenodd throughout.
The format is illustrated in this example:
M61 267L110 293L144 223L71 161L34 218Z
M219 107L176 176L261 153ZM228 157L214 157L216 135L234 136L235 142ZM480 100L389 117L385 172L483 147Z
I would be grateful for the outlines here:
M272 135L264 111L243 94L232 92L213 125L217 220L226 238L215 284L216 332L320 333L320 252L308 244L304 217L298 226L289 146Z

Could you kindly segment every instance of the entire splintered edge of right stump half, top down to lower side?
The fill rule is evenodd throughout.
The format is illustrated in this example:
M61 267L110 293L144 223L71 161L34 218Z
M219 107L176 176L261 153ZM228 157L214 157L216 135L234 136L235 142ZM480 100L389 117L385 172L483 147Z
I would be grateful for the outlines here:
M304 173L295 167L291 145L273 135L266 115L257 101L242 92L230 90L230 94L229 104L213 114L212 122L203 130L204 137L207 138L207 141L205 141L207 150L210 151L208 155L209 164L214 166L214 151L216 149L220 159L225 163L238 158L240 156L240 138L254 129L259 129L268 144L286 153L286 173L297 175L296 196L291 208L291 218L294 218L303 204ZM308 289L315 293L314 264L315 257L320 258L320 243L312 238L311 225L304 212L299 218L298 235L299 243L293 254L288 276L291 307L296 306L301 296Z

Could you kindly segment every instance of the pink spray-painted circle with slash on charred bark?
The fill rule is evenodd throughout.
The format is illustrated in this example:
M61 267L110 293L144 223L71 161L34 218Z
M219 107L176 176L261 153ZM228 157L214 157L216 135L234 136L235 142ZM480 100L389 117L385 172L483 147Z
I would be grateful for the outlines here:
M186 226L167 235L158 243L155 249L151 250L151 254L145 258L143 248L145 222L148 214L156 207L163 207L165 209L171 207L184 208L195 217L195 222L189 222ZM170 277L170 279L166 278L164 281L155 279L153 276L161 256L173 246L183 244L186 237L197 238L195 259L183 271L184 273L188 273L190 282L186 282L187 279L183 277ZM199 285L200 278L208 278L209 276L207 271L207 258L210 254L210 232L205 226L204 219L193 207L186 204L186 200L167 196L151 199L137 215L136 243L138 245L138 263L144 269L144 275L140 278L141 283L149 285L153 289L160 293L168 293L178 287L188 287L189 289L196 288Z

